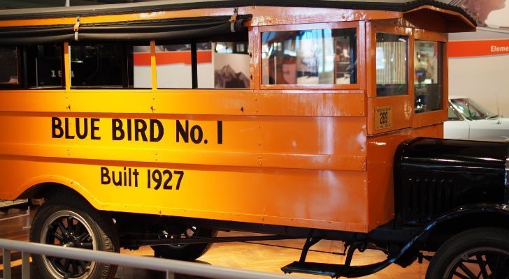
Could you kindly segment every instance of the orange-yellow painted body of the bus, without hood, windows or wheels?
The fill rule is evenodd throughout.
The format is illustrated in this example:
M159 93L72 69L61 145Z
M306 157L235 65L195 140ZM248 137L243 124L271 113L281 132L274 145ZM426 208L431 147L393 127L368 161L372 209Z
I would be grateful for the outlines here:
M80 22L232 12L203 8L82 15ZM431 6L407 12L246 6L238 13L252 15L245 22L249 89L157 89L153 50L152 89L71 89L65 43L64 89L1 91L0 198L30 197L60 184L101 211L347 232L370 232L392 220L394 151L410 137L443 136L447 75L443 110L414 114L413 86L407 95L376 98L375 31L445 43L443 32L472 29L473 24L464 15ZM420 13L450 22L410 24ZM76 17L1 20L0 27L75 22ZM356 28L357 84L340 90L334 85L261 84L260 46L254 42L262 31L292 24ZM413 75L413 61L408 63ZM446 55L443 63L447 73ZM375 128L376 107L391 107L390 127ZM136 125L145 129L136 133ZM121 186L115 186L119 179Z

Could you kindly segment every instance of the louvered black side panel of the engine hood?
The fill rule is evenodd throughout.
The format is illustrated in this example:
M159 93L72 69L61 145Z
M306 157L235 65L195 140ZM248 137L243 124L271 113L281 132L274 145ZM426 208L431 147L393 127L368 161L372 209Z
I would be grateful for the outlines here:
M407 177L401 187L401 222L424 225L453 208L452 179Z

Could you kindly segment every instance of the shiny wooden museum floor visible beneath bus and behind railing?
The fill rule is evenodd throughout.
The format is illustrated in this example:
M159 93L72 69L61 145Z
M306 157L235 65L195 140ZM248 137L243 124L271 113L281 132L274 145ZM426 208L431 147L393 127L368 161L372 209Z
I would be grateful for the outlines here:
M0 218L14 216L17 212L10 210L8 214L0 213ZM24 218L16 218L0 222L0 238L27 241L27 229L24 226ZM222 236L244 236L243 232L220 233ZM256 241L250 243L215 243L210 250L203 255L197 262L203 264L212 264L214 266L227 266L236 269L248 269L253 271L266 271L271 273L282 273L281 266L285 266L299 259L300 248L303 246L302 239L287 241ZM339 252L341 244L338 241L321 241L313 246L313 250L308 254L308 260L312 262L340 263L344 257L336 255ZM141 248L139 250L122 250L122 253L129 255L140 255L152 257L153 252L150 248ZM360 253L359 253L360 254ZM13 258L13 278L21 278L20 264L21 255L15 252ZM354 256L352 264L370 264L385 259L385 255L378 251L366 251L358 257ZM1 263L1 261L0 261ZM391 278L391 279L419 279L424 278L427 263L418 264L415 262L407 269L392 265L387 269L380 271L372 276L364 278ZM0 278L3 265L0 264ZM38 278L37 271L32 269L31 278ZM306 275L304 275L306 276ZM309 276L310 278L329 278L325 276ZM115 276L117 279L152 279L164 278L163 273L156 271L145 271L120 267ZM203 279L194 276L175 276L178 279ZM218 278L219 279L219 278Z

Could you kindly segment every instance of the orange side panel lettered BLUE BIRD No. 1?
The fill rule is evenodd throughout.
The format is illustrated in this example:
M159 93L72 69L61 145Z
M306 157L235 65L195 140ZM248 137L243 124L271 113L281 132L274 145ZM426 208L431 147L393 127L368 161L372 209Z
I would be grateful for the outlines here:
M364 121L361 117L2 114L1 129L9 133L0 134L0 152L361 171L366 160ZM31 127L30 133L26 127Z

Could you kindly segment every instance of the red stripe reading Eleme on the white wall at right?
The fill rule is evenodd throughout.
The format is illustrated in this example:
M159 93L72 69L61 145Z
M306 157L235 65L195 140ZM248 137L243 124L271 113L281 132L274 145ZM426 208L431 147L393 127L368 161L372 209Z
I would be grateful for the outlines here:
M449 42L449 57L475 57L509 54L509 39L458 40Z

